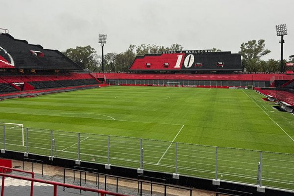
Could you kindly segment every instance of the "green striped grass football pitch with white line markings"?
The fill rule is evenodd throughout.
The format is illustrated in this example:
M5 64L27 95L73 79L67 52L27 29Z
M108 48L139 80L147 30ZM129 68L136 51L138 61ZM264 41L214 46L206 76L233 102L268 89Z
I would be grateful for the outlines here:
M160 172L174 172L171 142L178 142L178 172L208 179L215 178L215 146L218 177L246 183L256 183L258 151L276 152L263 152L263 183L294 189L294 115L262 98L245 89L112 86L3 100L0 122L30 127L36 154L51 153L50 132L40 129L55 130L57 156L70 159L80 132L81 160L103 164L110 135L110 163L132 168L140 166L142 138L144 169ZM7 150L25 152L19 127L7 126L6 135Z

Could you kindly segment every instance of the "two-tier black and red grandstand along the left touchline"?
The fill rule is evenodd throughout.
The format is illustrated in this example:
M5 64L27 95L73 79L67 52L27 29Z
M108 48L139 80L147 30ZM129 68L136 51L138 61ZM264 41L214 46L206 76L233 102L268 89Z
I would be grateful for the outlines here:
M97 87L100 83L58 50L0 34L0 97L28 91Z

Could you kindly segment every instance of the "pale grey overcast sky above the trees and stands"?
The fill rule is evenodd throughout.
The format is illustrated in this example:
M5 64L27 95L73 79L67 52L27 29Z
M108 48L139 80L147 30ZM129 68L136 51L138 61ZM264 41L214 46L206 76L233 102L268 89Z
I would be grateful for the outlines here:
M0 0L0 28L16 39L64 51L90 45L101 55L130 44L181 44L185 50L240 51L242 42L265 39L280 59L276 24L287 24L284 59L294 54L294 0Z

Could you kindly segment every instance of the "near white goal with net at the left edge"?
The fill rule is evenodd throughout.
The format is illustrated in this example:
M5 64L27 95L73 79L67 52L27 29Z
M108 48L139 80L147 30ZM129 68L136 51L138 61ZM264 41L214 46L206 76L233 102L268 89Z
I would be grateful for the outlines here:
M19 144L19 142L21 142L22 146L24 146L24 124L0 123L1 133L3 133L4 131L4 126L5 126L5 140L7 141L7 143Z

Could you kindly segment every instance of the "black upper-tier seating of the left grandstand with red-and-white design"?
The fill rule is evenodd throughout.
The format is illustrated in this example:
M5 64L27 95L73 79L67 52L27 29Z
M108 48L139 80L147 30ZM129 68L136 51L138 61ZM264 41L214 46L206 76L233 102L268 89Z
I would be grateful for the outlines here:
M40 45L28 44L25 40L14 39L9 34L0 34L0 46L2 47L0 68L83 70L58 50L43 49Z

